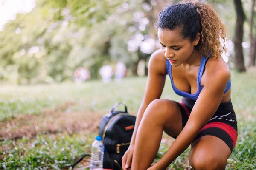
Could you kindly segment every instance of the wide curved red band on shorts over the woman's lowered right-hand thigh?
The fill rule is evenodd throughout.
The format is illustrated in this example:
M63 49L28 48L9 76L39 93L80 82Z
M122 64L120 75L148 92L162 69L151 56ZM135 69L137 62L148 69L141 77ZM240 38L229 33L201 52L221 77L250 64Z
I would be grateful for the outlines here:
M230 125L227 125L226 123L222 123L222 122L212 122L212 123L208 123L206 124L199 132L201 132L204 129L210 128L210 127L218 127L222 130L224 130L225 132L227 132L227 134L230 136L230 138L233 141L233 148L236 145L236 140L237 140L237 132L235 129L233 129L233 127L231 127Z

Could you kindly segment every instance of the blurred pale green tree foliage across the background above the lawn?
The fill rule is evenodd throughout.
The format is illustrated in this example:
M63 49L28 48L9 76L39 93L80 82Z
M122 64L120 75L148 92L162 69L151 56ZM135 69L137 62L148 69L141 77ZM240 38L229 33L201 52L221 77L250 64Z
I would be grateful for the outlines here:
M17 14L0 31L0 80L13 84L61 82L72 79L79 66L89 68L92 79L98 79L102 65L117 60L136 74L135 63L147 60L148 54L129 51L127 43L135 34L156 39L156 31L149 28L154 27L161 6L172 2L176 0L157 1L157 5L148 0L37 0L32 12ZM233 1L218 0L213 5L232 39ZM244 8L248 6L250 2L244 1ZM134 19L138 14L150 20L144 31L139 29L142 22ZM245 32L248 28L245 23ZM247 39L245 34L244 41Z

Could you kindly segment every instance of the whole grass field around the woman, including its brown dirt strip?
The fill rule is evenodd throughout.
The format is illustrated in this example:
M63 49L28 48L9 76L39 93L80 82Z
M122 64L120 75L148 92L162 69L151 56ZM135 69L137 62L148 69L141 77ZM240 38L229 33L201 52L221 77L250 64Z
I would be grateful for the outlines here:
M101 117L116 102L125 102L136 115L143 99L146 77L120 83L7 86L0 88L0 169L66 170L81 154L90 153ZM169 77L161 98L179 101ZM256 169L256 72L232 72L232 96L239 136L228 159L228 170ZM173 139L163 135L155 161ZM189 148L169 166L188 167ZM80 165L88 164L84 160ZM79 166L78 166L79 167Z

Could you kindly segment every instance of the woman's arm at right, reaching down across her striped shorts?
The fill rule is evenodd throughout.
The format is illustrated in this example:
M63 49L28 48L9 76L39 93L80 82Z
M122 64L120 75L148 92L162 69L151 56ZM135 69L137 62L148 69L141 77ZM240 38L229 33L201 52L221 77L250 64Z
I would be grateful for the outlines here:
M150 170L165 170L192 143L199 130L209 122L221 103L230 71L227 68L212 69L206 75L204 88L189 116L188 122L166 154Z

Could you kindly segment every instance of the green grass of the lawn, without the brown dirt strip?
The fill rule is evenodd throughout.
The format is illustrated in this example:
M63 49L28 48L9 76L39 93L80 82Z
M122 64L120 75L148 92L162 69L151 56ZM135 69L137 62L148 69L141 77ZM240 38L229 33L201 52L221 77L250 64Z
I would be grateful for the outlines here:
M136 114L143 99L146 77L127 78L121 83L102 84L90 81L76 85L65 82L54 85L3 86L0 89L0 120L14 119L17 115L41 114L44 108L54 109L65 102L75 102L73 111L94 111L104 115L116 102L125 102L128 111ZM169 77L161 98L179 101ZM232 72L232 96L238 119L238 141L228 160L228 170L256 169L256 73ZM86 115L84 115L86 116ZM0 141L0 169L43 170L69 169L81 154L90 153L95 133L38 134L35 139L24 137L16 141ZM168 150L162 143L159 160ZM189 149L179 156L169 169L179 170L188 163Z

